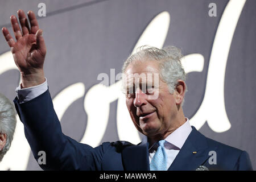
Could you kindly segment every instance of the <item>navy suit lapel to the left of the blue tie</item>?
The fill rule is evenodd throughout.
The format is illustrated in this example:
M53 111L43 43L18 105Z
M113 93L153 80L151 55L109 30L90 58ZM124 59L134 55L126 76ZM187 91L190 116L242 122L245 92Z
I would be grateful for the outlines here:
M149 171L148 143L145 138L138 145L122 150L122 162L126 171Z

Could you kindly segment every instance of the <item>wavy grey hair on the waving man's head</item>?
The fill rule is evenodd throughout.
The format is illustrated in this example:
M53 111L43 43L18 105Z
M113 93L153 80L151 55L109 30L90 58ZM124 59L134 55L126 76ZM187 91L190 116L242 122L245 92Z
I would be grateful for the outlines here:
M160 77L168 84L169 92L173 94L177 86L177 80L183 80L184 82L186 80L185 71L180 61L181 57L183 57L181 49L175 46L167 46L162 49L141 46L137 48L136 53L130 55L123 63L122 73L125 73L126 68L130 64L134 64L135 61L158 61Z

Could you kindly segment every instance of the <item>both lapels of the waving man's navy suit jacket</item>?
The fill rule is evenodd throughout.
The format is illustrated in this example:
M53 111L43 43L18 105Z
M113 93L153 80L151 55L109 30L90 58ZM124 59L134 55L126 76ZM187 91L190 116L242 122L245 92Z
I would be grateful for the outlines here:
M196 154L193 154L196 152ZM146 154L146 155L145 155ZM208 158L209 147L206 137L192 126L192 131L168 170L196 170ZM127 171L149 171L148 142L146 136L138 145L127 146L122 150L123 167Z

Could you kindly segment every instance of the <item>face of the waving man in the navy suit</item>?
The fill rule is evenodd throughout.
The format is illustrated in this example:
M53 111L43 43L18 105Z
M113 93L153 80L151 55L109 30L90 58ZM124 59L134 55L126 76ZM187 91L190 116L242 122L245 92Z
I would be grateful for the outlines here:
M155 79L155 74L159 75L159 64L156 61L137 61L125 71L127 109L135 127L148 137L172 130L177 116L174 95L169 92L166 82L160 77L159 81ZM139 80L139 84L135 80ZM144 90L143 85L146 85L144 88L148 85L151 88L152 85L152 89ZM153 94L158 97L152 99Z

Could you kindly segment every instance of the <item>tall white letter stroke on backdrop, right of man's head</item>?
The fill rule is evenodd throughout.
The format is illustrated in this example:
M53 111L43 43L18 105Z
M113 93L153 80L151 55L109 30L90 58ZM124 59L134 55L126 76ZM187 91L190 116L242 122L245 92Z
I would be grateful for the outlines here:
M245 2L246 0L230 0L221 16L210 55L204 99L199 110L190 119L191 125L197 129L200 129L205 121L210 129L219 133L231 127L224 98L226 61Z

